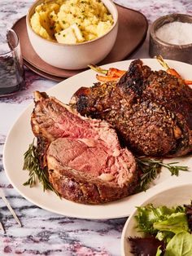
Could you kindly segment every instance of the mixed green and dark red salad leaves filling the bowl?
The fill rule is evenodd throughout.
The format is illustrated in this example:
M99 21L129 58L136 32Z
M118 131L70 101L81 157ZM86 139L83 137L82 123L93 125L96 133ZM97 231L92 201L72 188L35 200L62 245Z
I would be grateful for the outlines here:
M146 236L129 238L129 241L135 240L133 251L142 253L145 248L145 255L149 256L192 256L191 216L192 205L137 207L137 231ZM153 254L151 248L155 249Z

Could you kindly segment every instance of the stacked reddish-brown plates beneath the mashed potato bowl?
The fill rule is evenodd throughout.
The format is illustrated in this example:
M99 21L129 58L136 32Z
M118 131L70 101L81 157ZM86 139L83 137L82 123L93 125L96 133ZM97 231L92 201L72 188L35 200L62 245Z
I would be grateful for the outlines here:
M133 51L136 51L138 47L142 45L142 42L144 42L146 38L148 23L145 15L139 11L120 7L118 5L116 5L116 7L119 13L119 29L116 43L109 55L107 55L105 60L100 64L109 64L126 59L133 53ZM24 64L34 72L41 74L43 77L46 77L46 74L48 74L47 78L55 81L61 81L63 80L63 77L72 77L76 73L83 71L83 69L67 70L55 68L41 60L29 42L26 28L26 16L17 20L12 29L15 30L20 38Z

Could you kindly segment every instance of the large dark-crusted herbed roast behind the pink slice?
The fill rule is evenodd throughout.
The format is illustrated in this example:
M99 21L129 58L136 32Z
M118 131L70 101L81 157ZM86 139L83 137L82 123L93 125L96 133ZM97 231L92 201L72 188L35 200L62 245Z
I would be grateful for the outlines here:
M192 151L192 89L134 60L119 82L81 87L70 104L106 120L137 155L178 157Z

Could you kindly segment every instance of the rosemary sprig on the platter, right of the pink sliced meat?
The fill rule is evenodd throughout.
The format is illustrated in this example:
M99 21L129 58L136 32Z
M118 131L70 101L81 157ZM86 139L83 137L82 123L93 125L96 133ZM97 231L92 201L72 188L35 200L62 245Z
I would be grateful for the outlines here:
M165 164L161 159L151 159L147 157L137 157L137 169L139 170L138 191L145 191L148 185L157 178L164 166L171 175L179 175L180 170L189 170L187 166L173 166L178 162Z

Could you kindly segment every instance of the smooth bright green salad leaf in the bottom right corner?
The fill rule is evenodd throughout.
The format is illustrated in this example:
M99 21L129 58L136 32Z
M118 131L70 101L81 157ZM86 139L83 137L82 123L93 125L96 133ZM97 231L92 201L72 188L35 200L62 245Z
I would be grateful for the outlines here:
M191 256L192 235L188 232L180 232L169 241L164 256Z

